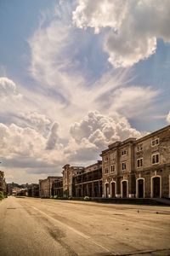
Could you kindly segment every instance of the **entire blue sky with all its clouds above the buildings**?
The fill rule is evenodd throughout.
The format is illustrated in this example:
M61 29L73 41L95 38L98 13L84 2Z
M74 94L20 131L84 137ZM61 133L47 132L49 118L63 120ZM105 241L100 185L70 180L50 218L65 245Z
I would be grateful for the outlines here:
M169 0L1 0L0 168L37 183L170 124Z

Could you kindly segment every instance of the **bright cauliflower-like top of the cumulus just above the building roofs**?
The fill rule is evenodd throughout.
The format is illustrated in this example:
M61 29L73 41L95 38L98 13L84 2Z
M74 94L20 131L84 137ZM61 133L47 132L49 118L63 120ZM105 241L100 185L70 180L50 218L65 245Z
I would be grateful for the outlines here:
M80 122L71 125L71 136L77 143L88 141L102 150L109 143L125 140L127 137L140 137L141 133L133 129L127 119L118 113L108 117L92 111Z

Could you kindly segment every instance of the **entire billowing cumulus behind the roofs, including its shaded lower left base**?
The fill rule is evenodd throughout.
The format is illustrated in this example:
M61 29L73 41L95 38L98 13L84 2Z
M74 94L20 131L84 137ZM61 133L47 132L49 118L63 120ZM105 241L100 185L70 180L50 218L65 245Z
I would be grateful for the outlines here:
M71 139L63 151L65 158L84 166L98 160L101 151L110 143L145 134L133 129L127 119L116 112L109 117L98 111L88 112L79 122L71 125L70 131Z

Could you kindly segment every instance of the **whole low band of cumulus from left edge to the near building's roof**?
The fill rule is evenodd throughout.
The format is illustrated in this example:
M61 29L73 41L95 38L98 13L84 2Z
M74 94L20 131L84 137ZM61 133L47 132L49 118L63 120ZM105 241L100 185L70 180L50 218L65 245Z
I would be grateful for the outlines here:
M0 123L0 148L3 166L23 168L28 173L61 172L61 166L70 162L86 166L99 159L101 150L109 143L127 137L140 137L126 118L115 113L114 118L97 111L90 112L82 120L71 125L68 141L59 143L59 125L54 122L48 137L37 127L3 125ZM26 171L27 170L27 171ZM42 170L42 172L41 172Z

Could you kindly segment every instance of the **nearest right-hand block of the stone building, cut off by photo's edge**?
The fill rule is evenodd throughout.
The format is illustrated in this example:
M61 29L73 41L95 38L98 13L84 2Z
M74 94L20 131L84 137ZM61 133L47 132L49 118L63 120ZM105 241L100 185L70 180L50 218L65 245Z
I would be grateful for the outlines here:
M136 197L170 197L170 125L134 146Z

